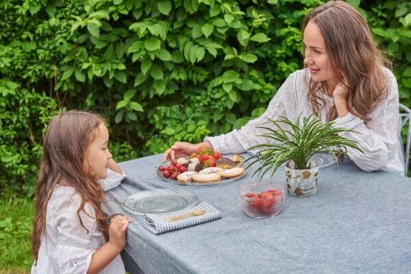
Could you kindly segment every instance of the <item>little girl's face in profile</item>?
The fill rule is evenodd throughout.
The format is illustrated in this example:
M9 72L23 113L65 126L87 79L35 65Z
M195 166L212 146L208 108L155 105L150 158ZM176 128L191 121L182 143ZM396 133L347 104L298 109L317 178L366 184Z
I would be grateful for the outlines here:
M95 140L92 141L86 151L86 160L84 161L86 171L97 177L97 179L107 177L108 160L112 158L107 145L108 129L104 123L101 123L97 129Z

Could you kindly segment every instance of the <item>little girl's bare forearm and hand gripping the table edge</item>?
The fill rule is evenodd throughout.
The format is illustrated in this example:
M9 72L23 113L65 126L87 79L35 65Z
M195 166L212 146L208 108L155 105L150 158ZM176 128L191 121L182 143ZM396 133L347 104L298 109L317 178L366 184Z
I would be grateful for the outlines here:
M99 273L119 255L127 243L125 232L130 222L131 220L124 216L117 216L110 221L110 240L92 254L87 274Z

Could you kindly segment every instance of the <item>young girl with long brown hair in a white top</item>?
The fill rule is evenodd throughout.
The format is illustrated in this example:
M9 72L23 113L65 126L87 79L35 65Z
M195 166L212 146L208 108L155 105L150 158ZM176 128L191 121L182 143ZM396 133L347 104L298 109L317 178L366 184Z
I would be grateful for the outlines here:
M125 273L119 253L130 220L105 216L104 190L125 177L101 117L70 111L47 128L37 182L32 274Z

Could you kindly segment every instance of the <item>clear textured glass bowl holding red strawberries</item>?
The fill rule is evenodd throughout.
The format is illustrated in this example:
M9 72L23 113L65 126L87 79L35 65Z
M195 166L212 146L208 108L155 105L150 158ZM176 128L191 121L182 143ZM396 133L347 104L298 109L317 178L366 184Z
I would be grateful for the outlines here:
M257 219L275 216L282 209L285 196L282 183L238 184L238 200L245 214Z

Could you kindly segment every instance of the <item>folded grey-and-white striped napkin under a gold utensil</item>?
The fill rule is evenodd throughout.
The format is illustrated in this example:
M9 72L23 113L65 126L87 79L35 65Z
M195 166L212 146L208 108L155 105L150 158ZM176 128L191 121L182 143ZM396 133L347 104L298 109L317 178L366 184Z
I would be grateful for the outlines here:
M206 210L206 213L203 215L193 216L177 221L164 222L165 219L188 214L196 210ZM219 212L219 210L216 210L208 203L199 203L197 206L186 208L185 210L179 212L171 212L167 214L144 214L144 222L142 223L142 226L153 234L162 234L164 232L169 232L184 227L190 227L192 225L199 225L200 223L206 223L220 218L221 212Z

